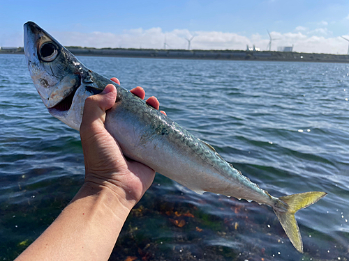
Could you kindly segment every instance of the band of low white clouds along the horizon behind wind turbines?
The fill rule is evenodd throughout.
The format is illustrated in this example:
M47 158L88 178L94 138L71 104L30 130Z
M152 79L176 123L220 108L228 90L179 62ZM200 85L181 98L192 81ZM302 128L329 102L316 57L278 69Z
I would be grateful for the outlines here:
M294 46L295 52L346 54L348 42L340 37L330 37L331 31L326 28L309 31L304 26L297 26L294 32L280 33L270 32L272 38L272 50L280 46ZM123 47L123 48L163 48L164 41L170 49L187 49L188 41L195 35L191 42L192 49L235 49L245 50L246 45L259 47L262 51L267 49L269 36L255 33L249 37L241 33L227 33L220 31L188 31L187 29L174 29L164 32L159 27L151 29L132 29L115 33L77 33L77 32L52 32L52 35L66 46L82 47ZM11 45L8 43L7 45ZM12 46L12 45L11 45ZM22 45L19 45L22 46Z

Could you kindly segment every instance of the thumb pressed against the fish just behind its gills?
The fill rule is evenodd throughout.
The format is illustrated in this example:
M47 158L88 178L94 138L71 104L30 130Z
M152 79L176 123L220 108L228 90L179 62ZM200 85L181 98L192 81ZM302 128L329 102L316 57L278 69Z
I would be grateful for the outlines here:
M102 93L87 97L80 133L85 130L96 132L101 127L104 128L105 111L114 105L116 99L117 89L112 84L108 84Z

